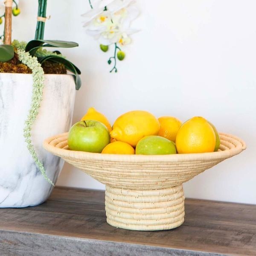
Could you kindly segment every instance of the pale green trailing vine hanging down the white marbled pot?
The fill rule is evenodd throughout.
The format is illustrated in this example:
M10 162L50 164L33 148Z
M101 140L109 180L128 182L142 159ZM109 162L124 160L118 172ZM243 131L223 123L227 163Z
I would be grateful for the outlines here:
M52 183L52 180L50 180L49 177L46 175L44 166L42 162L39 160L31 140L32 125L36 119L36 116L38 115L40 103L43 99L44 70L42 69L41 64L38 62L37 58L32 57L29 54L29 52L25 52L22 49L17 49L17 54L19 56L19 60L32 70L32 78L33 78L31 108L29 110L29 114L25 122L25 128L23 129L23 136L27 143L27 148L30 154L32 155L33 160L37 164L39 170L41 171L41 174L52 186L54 186L54 184Z

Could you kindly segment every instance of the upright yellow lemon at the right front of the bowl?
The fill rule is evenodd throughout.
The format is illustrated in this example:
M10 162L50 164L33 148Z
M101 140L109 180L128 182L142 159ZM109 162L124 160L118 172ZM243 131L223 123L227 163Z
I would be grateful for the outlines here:
M209 122L201 116L184 122L177 132L176 148L181 154L213 152L215 144L215 132Z

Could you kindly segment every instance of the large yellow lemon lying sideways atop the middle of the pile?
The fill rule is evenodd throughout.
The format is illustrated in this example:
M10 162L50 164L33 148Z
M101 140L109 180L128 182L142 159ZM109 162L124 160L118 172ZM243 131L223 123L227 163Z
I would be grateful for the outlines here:
M159 128L159 121L154 115L147 111L135 110L124 113L116 119L110 136L135 147L141 138L157 135Z

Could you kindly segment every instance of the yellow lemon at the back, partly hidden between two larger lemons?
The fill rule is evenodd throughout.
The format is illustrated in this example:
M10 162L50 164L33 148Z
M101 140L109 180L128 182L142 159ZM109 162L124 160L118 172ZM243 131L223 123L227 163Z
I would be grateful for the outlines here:
M158 118L158 121L160 123L160 130L157 135L175 142L182 122L174 116L161 116Z

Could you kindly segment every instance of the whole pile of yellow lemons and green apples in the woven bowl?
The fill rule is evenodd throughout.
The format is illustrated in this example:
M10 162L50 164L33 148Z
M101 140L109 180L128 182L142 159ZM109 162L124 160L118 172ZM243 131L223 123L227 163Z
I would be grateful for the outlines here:
M122 114L111 126L102 113L89 108L70 128L68 146L102 154L186 154L218 151L220 139L215 126L201 116L182 123L137 110Z

